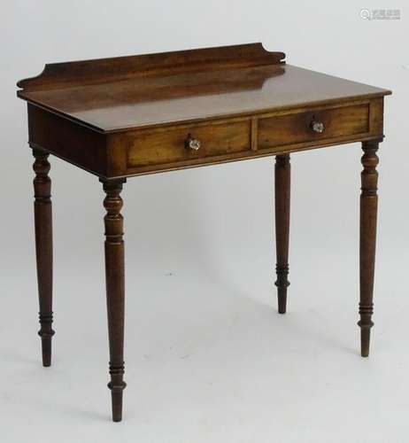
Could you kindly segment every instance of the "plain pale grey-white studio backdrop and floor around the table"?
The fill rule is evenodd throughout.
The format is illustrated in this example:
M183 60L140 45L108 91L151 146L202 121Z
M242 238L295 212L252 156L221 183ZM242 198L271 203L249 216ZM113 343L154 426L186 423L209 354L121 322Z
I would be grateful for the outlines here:
M2 5L0 436L23 441L407 441L407 7L22 1ZM48 62L262 42L287 62L392 89L380 146L371 356L359 357L359 144L292 156L288 315L276 314L274 158L128 180L124 422L110 422L103 206L51 159L53 367L42 369L32 157L20 78ZM81 303L81 305L80 305ZM85 308L82 310L82 304Z

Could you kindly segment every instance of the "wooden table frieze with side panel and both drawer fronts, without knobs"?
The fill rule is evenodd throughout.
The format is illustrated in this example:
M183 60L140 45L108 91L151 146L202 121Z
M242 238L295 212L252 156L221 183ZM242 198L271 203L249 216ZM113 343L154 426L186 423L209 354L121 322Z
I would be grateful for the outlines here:
M29 141L33 146L99 177L118 178L379 139L382 136L382 97L308 109L300 107L254 116L104 134L29 104ZM314 134L309 127L313 115L323 115L326 119L327 129L322 135ZM354 115L357 120L352 119ZM282 120L287 124L281 128ZM359 133L360 130L367 132ZM183 148L189 133L204 140L197 153ZM210 141L212 137L214 140Z

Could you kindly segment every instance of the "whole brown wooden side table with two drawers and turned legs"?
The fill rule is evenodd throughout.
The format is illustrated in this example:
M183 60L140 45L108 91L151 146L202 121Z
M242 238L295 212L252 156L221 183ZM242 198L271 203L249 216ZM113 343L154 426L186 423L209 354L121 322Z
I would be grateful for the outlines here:
M276 286L289 286L290 152L361 142L361 355L373 326L376 152L387 89L286 65L251 43L46 65L18 82L33 150L35 246L42 364L50 366L52 222L50 153L103 183L112 418L122 418L124 242L120 191L127 177L275 156Z

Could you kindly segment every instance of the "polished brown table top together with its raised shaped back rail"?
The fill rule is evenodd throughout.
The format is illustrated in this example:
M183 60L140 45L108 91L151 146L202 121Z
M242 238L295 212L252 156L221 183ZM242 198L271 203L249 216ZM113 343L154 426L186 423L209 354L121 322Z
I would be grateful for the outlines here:
M390 94L283 63L252 43L47 65L18 96L101 132L265 113Z

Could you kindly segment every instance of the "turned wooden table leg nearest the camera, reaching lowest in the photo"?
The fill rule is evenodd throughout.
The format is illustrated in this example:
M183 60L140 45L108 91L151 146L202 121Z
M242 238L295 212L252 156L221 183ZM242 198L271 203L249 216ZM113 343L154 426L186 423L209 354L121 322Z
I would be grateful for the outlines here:
M122 393L124 376L124 316L125 276L123 218L120 214L122 198L120 191L125 179L102 181L104 183L105 224L105 276L106 303L108 309L108 334L110 347L110 375L108 387L112 395L112 420L122 420Z

